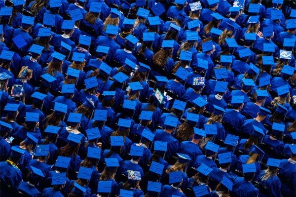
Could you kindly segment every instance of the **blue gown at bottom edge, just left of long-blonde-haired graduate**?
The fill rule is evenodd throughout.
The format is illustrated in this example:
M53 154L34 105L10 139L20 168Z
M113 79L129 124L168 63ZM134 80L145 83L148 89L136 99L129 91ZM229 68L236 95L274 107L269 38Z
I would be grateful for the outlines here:
M232 192L239 197L257 197L258 190L244 177L236 177L232 186Z

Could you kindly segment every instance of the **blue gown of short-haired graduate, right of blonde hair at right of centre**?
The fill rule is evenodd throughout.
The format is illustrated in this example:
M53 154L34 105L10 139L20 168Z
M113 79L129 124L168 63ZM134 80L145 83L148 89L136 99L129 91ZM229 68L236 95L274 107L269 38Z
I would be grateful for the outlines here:
M240 129L240 127L245 122L245 120L246 120L246 117L244 117L241 113L239 113L233 109L225 109L223 121L234 126L236 131L238 131Z

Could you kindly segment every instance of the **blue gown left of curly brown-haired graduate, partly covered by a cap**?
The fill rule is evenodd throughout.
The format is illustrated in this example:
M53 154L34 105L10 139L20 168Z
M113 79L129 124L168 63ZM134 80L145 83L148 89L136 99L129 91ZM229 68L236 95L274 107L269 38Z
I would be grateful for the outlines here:
M157 129L153 134L155 135L154 141L163 141L168 143L167 152L165 154L166 158L170 158L176 154L179 143L178 140L172 136L172 134L167 133L162 129Z

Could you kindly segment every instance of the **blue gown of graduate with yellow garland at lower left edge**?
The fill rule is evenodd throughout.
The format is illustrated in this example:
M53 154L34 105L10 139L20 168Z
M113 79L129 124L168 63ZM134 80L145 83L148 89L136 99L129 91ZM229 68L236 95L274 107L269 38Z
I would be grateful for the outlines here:
M17 185L22 181L22 172L15 166L7 163L6 161L0 162L0 179L5 183L16 188Z

